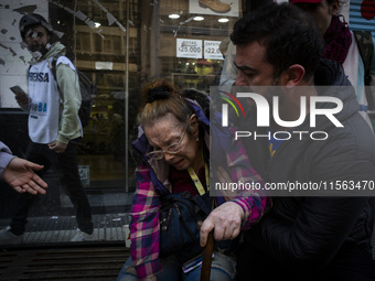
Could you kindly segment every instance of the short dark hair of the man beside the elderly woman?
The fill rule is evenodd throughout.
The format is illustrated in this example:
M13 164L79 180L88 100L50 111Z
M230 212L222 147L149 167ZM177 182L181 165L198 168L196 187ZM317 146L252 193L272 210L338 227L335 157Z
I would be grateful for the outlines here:
M293 64L304 67L306 80L311 78L324 47L311 18L288 3L271 3L248 13L236 22L231 40L240 46L254 42L265 46L275 78Z

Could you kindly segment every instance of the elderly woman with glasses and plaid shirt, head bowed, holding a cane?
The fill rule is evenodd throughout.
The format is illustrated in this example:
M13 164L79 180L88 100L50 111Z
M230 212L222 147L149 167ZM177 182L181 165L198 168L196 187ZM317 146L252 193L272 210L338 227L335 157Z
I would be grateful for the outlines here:
M200 247L200 240L201 246L205 245L211 230L216 241L236 238L242 229L260 219L271 204L270 198L254 192L250 196L244 193L232 196L228 202L217 198L219 206L204 220L196 245L160 255L164 249L160 240L162 227L159 215L165 196L188 192L191 196L204 197L205 202L208 199L207 205L212 209L214 199L206 195L210 188L210 126L212 133L216 134L212 138L221 139L212 142L215 147L211 148L215 150L212 154L223 155L227 162L218 179L227 182L262 180L251 169L240 143L224 148L226 142L223 140L227 137L223 130L213 128L215 118L210 125L210 99L206 95L196 90L185 90L180 95L165 79L147 85L142 95L144 102L138 115L138 139L133 142L141 164L136 171L137 190L130 210L131 258L117 280L200 280L201 268L194 262L190 269L182 269L184 262L192 258L186 255L196 255L193 249L196 245ZM229 199L228 196L225 198ZM235 266L233 247L218 244L212 261L212 280L234 280Z

